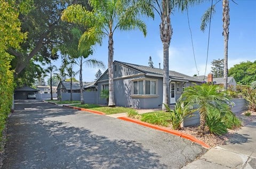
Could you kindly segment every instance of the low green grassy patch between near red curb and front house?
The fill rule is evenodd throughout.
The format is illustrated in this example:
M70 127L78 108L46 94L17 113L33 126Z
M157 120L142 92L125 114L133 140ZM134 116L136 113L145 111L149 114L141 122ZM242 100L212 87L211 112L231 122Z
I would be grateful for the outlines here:
M141 114L142 122L147 122L156 125L170 126L170 113L169 112L151 112Z

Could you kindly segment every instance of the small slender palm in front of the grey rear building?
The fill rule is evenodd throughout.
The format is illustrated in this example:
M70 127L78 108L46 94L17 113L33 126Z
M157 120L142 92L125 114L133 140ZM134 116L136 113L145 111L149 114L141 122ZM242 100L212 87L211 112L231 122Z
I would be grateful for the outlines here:
M81 104L84 104L84 94L83 94L83 64L85 63L87 66L89 67L102 67L104 69L104 64L101 61L95 60L95 59L87 59L84 60L83 56L79 56L78 58L75 59L76 61L74 62L75 64L77 64L80 69L79 69L79 85L80 85L80 100L81 100Z

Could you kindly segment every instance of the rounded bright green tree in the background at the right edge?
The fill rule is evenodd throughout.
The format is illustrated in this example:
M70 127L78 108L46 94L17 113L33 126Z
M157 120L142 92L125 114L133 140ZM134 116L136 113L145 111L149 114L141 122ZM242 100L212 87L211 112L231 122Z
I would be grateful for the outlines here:
M256 80L256 61L241 62L235 64L228 71L229 76L234 77L239 85L250 85Z

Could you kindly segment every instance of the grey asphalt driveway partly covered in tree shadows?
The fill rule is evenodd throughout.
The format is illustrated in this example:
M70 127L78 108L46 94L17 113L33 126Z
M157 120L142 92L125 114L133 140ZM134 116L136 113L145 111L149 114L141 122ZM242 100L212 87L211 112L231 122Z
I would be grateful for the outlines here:
M196 143L108 116L17 100L2 168L181 168Z

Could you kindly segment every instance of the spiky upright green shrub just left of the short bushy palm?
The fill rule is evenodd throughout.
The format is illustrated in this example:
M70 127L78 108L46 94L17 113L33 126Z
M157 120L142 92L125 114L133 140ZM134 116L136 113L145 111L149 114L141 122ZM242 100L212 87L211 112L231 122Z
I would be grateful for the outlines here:
M164 104L168 112L170 112L170 122L172 129L179 130L181 128L181 123L192 116L192 111L185 102L178 100L173 110L166 104Z

